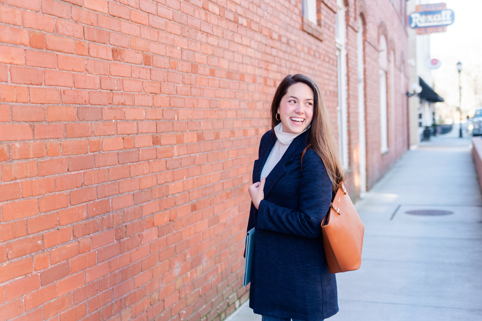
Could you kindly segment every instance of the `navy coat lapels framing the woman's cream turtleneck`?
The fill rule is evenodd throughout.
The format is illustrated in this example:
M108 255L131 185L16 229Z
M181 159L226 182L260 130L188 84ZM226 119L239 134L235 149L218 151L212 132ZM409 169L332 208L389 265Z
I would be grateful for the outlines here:
M268 197L269 192L273 188L273 186L278 182L278 180L281 178L281 176L286 172L285 165L292 161L295 156L296 152L300 148L305 148L305 141L306 141L306 136L308 135L308 131L304 132L303 134L297 136L290 144L288 149L285 151L283 156L281 157L281 160L275 165L275 167L271 170L271 172L268 174L268 177L266 177L266 182L265 182L265 188L264 188L264 194L265 198ZM273 132L274 138L276 137L274 132ZM276 142L276 139L271 139L269 144L267 144L268 148L266 148L263 157L260 156L259 162L258 162L258 170L256 173L256 178L257 180L255 182L259 182L261 177L261 169L266 163L266 160L268 159L269 152L274 146L274 143ZM253 178L254 178L254 173L253 173Z

